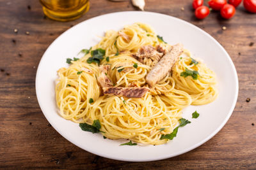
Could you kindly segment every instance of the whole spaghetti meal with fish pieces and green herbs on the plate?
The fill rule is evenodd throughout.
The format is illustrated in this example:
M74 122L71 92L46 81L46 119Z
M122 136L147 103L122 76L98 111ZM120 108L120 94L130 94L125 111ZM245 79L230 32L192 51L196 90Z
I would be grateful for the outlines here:
M129 139L124 145L167 143L190 123L182 118L183 108L218 96L211 69L182 44L166 43L147 24L107 31L81 53L84 57L67 59L70 66L58 70L60 115L83 131Z

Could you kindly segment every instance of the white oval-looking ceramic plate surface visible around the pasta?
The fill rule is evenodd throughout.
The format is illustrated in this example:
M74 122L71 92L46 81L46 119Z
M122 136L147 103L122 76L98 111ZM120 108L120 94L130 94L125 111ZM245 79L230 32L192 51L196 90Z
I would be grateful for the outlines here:
M218 77L219 96L211 104L189 106L183 117L191 124L179 129L177 137L159 146L119 146L120 141L103 139L101 134L81 131L78 124L65 120L58 115L54 99L56 71L67 67L66 59L74 57L83 48L99 42L109 29L118 30L127 24L143 22L151 25L157 34L170 44L183 43L195 57L205 64ZM160 160L193 150L212 138L225 125L237 101L238 79L236 68L225 49L209 34L184 20L159 13L124 11L109 13L91 18L68 29L59 36L44 53L36 73L36 96L38 103L52 127L64 138L102 157L126 161ZM194 111L200 117L191 118ZM124 142L124 141L122 141ZM125 141L126 142L126 141Z

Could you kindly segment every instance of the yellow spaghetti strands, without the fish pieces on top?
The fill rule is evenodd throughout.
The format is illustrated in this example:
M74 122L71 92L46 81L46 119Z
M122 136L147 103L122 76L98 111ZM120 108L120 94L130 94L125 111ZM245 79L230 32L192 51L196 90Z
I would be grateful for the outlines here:
M61 68L55 89L61 117L89 125L93 124L93 120L99 120L100 131L109 139L125 138L137 143L161 145L168 142L160 139L161 136L172 133L179 125L183 108L191 104L211 103L216 99L215 74L204 63L191 62L187 50L173 66L172 72L154 87L149 87L145 96L104 96L97 82L99 65L110 65L109 78L115 87L148 87L145 78L152 62L143 64L132 57L141 46L146 45L171 46L157 38L149 25L136 23L120 31L107 31L102 40L92 47L92 50L106 50L99 64L88 63L91 57L88 53L72 61L69 67ZM186 69L198 71L197 79L180 76Z

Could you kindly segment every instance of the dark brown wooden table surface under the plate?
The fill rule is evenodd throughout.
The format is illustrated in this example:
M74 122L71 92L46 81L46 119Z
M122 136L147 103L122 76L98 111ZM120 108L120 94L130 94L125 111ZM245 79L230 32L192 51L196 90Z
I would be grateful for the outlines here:
M37 66L52 41L72 25L104 13L137 9L129 1L91 0L83 17L56 22L44 17L39 1L0 0L1 169L256 169L256 15L241 4L231 20L221 19L214 11L205 20L196 20L191 1L146 2L146 11L204 29L230 54L239 76L239 96L225 127L191 152L154 162L111 160L78 148L58 134L40 110L35 92Z

